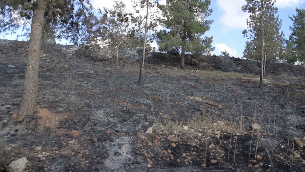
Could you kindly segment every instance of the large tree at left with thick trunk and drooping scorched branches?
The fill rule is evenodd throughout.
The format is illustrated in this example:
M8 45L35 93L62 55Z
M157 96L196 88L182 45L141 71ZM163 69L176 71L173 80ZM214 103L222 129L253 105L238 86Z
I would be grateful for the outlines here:
M11 15L12 13L18 15ZM16 33L20 27L26 28L27 25L20 24L20 19L31 23L23 94L16 119L22 122L36 111L39 54L45 24L54 28L57 39L65 38L76 45L92 44L103 36L103 22L107 16L97 17L88 0L2 1L0 14L0 33Z

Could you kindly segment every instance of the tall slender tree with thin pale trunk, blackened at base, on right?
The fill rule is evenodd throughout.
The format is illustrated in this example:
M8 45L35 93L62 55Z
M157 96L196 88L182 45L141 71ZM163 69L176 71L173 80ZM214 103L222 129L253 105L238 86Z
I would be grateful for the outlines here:
M248 12L250 15L249 19L247 19L248 29L245 29L242 34L253 42L255 52L260 52L261 73L259 88L261 88L267 56L276 58L281 51L280 47L284 43L284 39L281 38L283 33L279 32L281 20L276 16L278 8L274 7L275 2L273 0L246 0L246 2L247 4L242 6L242 11ZM276 40L279 42L275 42Z

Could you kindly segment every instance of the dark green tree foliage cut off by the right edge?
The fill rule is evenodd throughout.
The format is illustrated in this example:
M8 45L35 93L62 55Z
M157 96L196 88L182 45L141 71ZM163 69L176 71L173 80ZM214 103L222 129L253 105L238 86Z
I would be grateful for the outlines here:
M291 35L289 36L288 48L291 49L290 59L287 62L300 61L305 62L305 9L296 8L296 15L289 16L292 20L292 26L289 27Z

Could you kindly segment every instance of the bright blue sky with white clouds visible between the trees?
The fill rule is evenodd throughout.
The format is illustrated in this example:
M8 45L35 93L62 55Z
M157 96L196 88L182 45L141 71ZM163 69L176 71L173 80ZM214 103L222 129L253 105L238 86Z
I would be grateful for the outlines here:
M130 0L122 0L128 10L133 10ZM114 4L113 0L100 1L91 0L92 5L95 8L103 7L111 8ZM160 0L160 3L165 3L166 0ZM213 35L213 43L215 51L213 53L219 55L221 51L227 50L231 56L242 57L242 51L244 50L246 38L243 38L242 31L246 28L247 14L241 11L241 6L244 5L245 0L211 0L210 8L213 9L213 13L208 19L213 19L210 31L206 32L206 36ZM285 37L290 35L289 26L292 24L288 16L295 14L295 8L305 8L305 0L278 0L275 4L278 9L279 17L282 19L282 30L285 33ZM22 33L21 30L17 32ZM17 35L8 35L1 39L16 40ZM22 40L19 38L18 40ZM57 41L60 44L70 44L66 40Z

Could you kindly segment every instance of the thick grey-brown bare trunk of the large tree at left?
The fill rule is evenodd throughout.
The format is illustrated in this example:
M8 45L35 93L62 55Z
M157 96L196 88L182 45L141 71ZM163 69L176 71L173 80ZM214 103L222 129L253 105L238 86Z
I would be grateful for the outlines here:
M38 90L39 55L44 26L45 1L37 0L31 24L27 69L23 84L23 94L16 121L22 122L24 117L33 115L36 111L36 97Z

